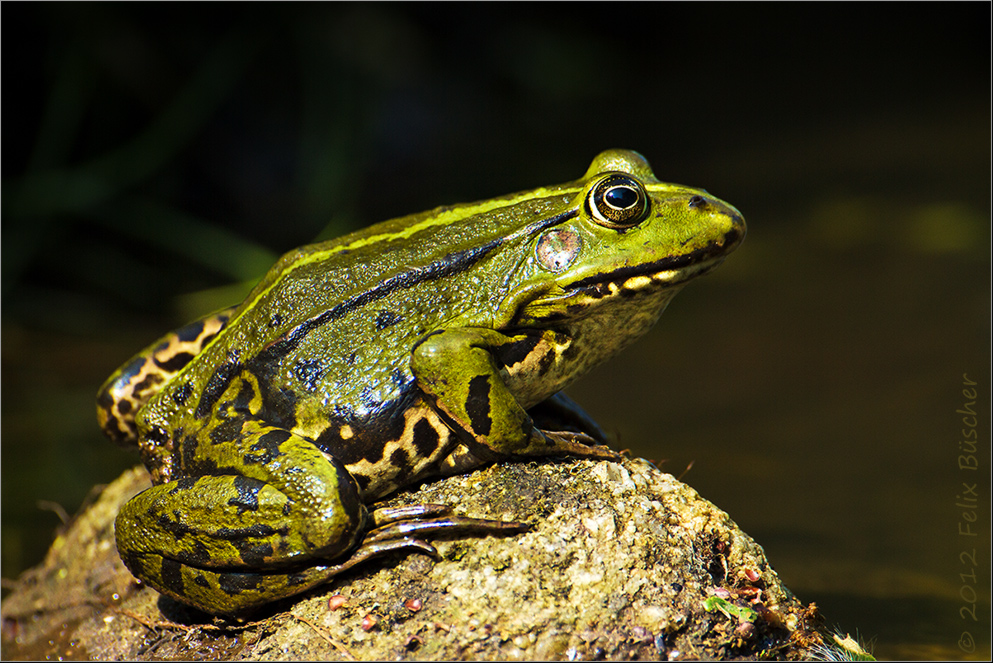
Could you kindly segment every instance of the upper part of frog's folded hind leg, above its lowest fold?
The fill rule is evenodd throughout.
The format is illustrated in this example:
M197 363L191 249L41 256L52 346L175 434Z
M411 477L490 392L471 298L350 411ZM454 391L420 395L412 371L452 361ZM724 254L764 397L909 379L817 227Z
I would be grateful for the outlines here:
M365 518L351 475L287 431L256 421L238 430L237 440L211 445L211 455L197 459L213 463L216 474L155 486L124 506L117 521L122 556L270 568L351 547ZM234 468L239 474L227 473Z

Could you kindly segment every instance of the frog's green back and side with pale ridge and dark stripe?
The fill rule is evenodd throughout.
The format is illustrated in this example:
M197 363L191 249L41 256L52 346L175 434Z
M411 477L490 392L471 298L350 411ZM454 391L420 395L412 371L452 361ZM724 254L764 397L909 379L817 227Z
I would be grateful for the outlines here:
M259 416L322 448L328 431L395 437L416 398L411 348L456 320L493 324L529 236L520 231L548 218L550 205L533 201L438 208L287 253L149 403L142 425L189 431L250 374Z

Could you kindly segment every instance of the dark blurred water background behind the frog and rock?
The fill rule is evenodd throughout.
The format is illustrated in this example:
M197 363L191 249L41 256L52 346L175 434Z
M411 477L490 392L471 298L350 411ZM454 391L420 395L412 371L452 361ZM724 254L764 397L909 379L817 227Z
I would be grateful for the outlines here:
M318 236L627 147L749 235L571 394L619 447L692 463L684 480L878 656L989 657L988 4L2 19L4 578L41 559L53 505L135 462L93 394L139 347ZM978 469L960 470L969 423Z

